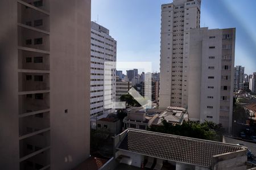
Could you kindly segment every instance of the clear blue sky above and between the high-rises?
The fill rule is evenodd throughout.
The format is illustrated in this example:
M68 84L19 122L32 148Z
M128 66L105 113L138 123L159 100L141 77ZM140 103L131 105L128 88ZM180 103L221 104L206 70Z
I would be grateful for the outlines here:
M160 7L172 0L92 0L92 20L117 40L117 61L151 61L160 65ZM256 71L256 1L203 0L201 27L236 27L235 65Z

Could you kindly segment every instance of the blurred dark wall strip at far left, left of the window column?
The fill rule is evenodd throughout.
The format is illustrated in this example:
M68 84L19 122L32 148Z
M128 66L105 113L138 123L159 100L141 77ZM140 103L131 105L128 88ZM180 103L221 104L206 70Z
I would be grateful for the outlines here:
M0 20L0 165L19 169L16 1L0 1Z

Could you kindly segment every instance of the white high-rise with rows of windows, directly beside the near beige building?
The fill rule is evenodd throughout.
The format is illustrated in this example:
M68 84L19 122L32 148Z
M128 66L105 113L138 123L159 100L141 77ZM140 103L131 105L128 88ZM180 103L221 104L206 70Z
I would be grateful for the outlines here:
M111 84L104 84L104 62L117 60L117 41L109 35L109 29L92 22L90 61L90 116L113 113L114 109L104 108L104 89L112 90L106 98L115 101L115 69L112 70Z

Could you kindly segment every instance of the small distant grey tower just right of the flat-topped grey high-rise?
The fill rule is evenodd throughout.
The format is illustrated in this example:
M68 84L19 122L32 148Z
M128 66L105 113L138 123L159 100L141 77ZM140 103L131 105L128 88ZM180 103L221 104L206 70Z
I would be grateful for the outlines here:
M245 67L234 67L234 91L243 90Z

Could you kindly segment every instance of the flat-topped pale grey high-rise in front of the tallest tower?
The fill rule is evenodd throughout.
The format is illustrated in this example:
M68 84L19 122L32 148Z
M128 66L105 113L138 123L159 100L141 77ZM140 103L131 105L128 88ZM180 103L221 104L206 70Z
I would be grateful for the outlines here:
M190 32L188 118L232 127L236 29Z

